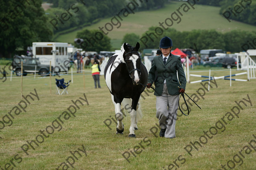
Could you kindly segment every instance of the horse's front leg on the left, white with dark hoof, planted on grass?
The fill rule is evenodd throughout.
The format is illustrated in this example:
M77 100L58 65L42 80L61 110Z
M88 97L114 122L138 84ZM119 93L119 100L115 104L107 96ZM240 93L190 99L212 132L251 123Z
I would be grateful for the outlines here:
M116 119L117 119L116 134L123 134L124 125L122 123L123 114L121 111L121 102L122 101L118 101L118 99L116 99L116 97L114 97L112 94L111 94L111 98L112 98L113 104L115 106L115 113L116 113Z

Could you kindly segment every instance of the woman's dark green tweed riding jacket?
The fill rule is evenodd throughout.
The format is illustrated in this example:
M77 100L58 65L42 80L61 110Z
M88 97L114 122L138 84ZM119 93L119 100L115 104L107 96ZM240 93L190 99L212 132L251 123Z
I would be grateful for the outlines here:
M180 84L177 78L177 72ZM186 76L180 61L180 57L170 54L166 65L163 64L163 54L154 57L148 73L148 83L155 83L155 96L163 92L163 82L166 79L167 89L170 95L178 95L179 88L186 88ZM158 93L158 94L157 94Z

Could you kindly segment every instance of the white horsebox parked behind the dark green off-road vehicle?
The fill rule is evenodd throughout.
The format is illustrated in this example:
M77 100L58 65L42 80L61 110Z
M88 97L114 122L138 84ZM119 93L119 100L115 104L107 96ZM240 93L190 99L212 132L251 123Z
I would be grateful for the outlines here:
M39 58L41 64L53 66L53 71L68 71L69 56L66 42L33 42L32 51L33 56ZM60 70L59 70L60 69Z

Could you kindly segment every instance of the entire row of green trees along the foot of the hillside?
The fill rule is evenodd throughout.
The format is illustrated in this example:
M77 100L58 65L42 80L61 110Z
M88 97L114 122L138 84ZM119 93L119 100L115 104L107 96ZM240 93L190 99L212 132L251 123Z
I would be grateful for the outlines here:
M244 51L245 44L253 44L256 40L256 31L248 32L241 30L233 30L226 33L221 33L215 30L192 30L192 31L177 31L170 28L161 36L154 36L156 27L150 27L140 37L137 34L125 34L122 43L126 42L130 45L135 45L140 42L140 50L145 48L159 48L159 42L164 36L170 37L173 42L173 48L192 48L197 53L202 49L222 49L231 53ZM82 30L77 33L77 38L82 38L84 43L76 45L78 48L83 48L86 51L110 51L114 50L111 46L111 39L102 34L97 36L99 30ZM144 43L142 37L151 35L151 39ZM157 37L157 38L156 38ZM120 45L121 46L121 45ZM252 48L252 47L250 47Z

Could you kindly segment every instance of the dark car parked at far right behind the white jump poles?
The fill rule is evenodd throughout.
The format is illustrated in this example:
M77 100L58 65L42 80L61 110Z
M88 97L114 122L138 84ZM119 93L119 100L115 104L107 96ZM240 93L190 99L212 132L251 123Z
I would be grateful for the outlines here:
M204 66L211 66L211 67L224 67L224 68L232 68L236 67L236 59L232 57L212 57L209 61L205 61L203 63ZM239 65L241 68L241 65Z

